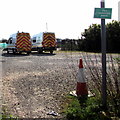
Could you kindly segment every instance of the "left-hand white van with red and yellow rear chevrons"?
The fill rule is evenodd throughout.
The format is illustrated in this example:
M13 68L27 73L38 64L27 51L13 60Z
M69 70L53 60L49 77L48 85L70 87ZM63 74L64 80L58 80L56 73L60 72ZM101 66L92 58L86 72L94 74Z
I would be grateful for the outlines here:
M15 33L12 34L7 42L7 48L3 49L3 51L7 51L7 53L12 52L22 53L26 52L27 54L31 53L31 37L29 33Z

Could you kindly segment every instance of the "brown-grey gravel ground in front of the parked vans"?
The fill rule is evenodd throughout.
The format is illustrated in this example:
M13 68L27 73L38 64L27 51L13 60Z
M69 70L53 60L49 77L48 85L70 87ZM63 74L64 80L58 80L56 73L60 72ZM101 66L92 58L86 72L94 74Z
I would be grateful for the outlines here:
M65 95L76 88L80 54L2 54L3 104L20 118L53 118Z

